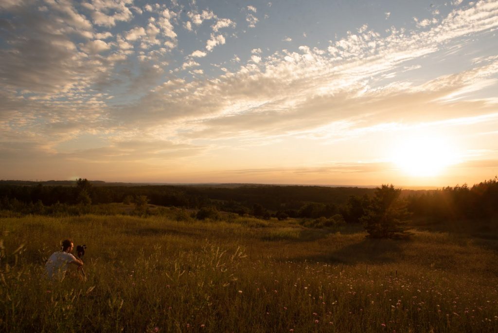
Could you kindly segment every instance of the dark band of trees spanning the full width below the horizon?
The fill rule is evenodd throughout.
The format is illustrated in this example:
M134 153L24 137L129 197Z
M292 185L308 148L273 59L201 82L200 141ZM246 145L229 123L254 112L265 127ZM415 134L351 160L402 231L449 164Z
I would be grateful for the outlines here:
M78 179L63 185L0 181L0 210L25 214L81 213L88 207L124 202L147 211L147 204L199 211L199 219L225 211L279 220L306 219L303 223L327 226L345 223L375 224L382 215L392 220L423 217L437 221L498 217L498 178L469 187L467 184L438 190L403 190L392 185L361 187L242 185L106 186ZM73 207L73 208L70 208ZM79 208L75 208L79 207ZM85 208L87 207L87 208ZM314 221L314 222L313 222ZM384 235L385 236L385 235Z

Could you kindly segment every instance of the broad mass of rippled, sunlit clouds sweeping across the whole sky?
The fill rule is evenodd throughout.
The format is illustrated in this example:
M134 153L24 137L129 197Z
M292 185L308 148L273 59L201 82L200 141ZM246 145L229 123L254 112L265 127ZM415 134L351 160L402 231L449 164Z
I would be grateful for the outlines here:
M89 4L93 8L95 3ZM130 3L126 6L131 8ZM391 28L385 34L368 27L352 29L326 49L301 45L296 52L265 51L264 58L252 49L243 57L249 57L247 63L239 64L234 55L230 63L220 64L228 69L218 76L197 68L192 58L205 56L201 50L178 65L190 74L169 71L167 49L175 47L178 38L173 24L181 22L164 7L151 6L160 17L143 27L120 31L118 25L99 33L85 27L84 17L72 16L71 10L39 11L22 4L9 8L15 12L4 17L5 43L0 50L0 136L5 156L27 149L37 151L44 161L52 156L59 162L150 162L200 154L209 149L192 144L200 140L211 147L237 143L238 148L288 138L324 144L410 122L457 126L456 119L468 116L469 110L475 116L496 113L496 102L470 97L496 87L498 59L476 58L471 69L457 74L428 73L431 79L425 82L400 75L407 69L424 69L431 54L465 45L469 35L474 38L475 33L496 29L498 5L490 1L455 9L423 29ZM114 11L107 14L114 16ZM208 11L199 15L202 20L216 19ZM111 31L116 41L105 41ZM90 37L85 37L87 32ZM81 38L78 44L71 39L75 34ZM131 41L140 41L143 48L157 46L134 52ZM224 35L212 32L206 50L225 41ZM123 66L115 67L117 63ZM164 77L168 81L163 83ZM126 103L109 102L120 91L129 96ZM94 145L100 147L94 150L57 153L58 144L88 132L111 139ZM144 133L157 138L144 139ZM162 152L161 145L171 149Z

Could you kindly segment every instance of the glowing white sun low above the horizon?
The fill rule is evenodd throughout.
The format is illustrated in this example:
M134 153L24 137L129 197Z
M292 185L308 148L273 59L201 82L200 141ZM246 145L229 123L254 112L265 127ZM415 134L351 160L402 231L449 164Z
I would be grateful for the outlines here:
M458 163L456 149L447 138L414 136L401 140L394 149L393 162L404 173L414 177L440 175Z

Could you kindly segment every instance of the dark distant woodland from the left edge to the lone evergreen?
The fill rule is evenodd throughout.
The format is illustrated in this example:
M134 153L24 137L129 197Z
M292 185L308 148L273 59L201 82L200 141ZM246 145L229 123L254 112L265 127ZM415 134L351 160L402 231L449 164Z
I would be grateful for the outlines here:
M265 218L278 216L318 218L339 212L352 195L373 193L372 188L323 186L244 185L216 186L104 186L78 179L73 186L19 184L0 181L0 209L22 205L133 203L146 196L148 203L190 209L215 207L217 210Z

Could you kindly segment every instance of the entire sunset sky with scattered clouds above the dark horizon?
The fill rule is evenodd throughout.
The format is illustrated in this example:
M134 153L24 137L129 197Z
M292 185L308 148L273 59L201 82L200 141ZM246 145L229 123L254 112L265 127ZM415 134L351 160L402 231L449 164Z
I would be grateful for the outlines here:
M498 174L498 1L0 0L0 178Z

